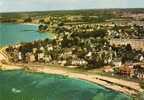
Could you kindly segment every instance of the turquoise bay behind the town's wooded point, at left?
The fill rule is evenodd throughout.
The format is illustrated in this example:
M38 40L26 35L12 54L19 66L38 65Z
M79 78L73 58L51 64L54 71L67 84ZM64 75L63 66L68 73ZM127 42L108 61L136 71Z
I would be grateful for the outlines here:
M0 23L0 47L19 42L50 38L52 34L37 32L37 25Z

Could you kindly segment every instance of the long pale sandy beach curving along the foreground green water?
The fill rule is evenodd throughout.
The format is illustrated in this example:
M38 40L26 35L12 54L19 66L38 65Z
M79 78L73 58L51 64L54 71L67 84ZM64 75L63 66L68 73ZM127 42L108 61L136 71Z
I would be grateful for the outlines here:
M28 65L28 64L11 64L11 65L1 65L1 70L24 70L28 72L37 72L37 73L45 73L45 74L57 74L57 75L63 75L67 76L69 78L75 78L80 80L85 80L94 84L98 84L100 86L103 86L107 89L124 93L129 96L134 96L138 92L143 91L138 83L125 81L125 80L119 80L115 78L110 78L106 76L100 76L100 75L93 75L88 73L78 73L78 72L72 72L68 71L64 68L56 68L51 66L37 66L37 65ZM117 80L119 80L117 82Z

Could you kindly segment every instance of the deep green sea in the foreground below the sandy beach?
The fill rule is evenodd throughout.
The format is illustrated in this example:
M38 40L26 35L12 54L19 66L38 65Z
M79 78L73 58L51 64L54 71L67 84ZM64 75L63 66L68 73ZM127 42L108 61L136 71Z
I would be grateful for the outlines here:
M59 75L0 72L0 100L130 100L93 83Z

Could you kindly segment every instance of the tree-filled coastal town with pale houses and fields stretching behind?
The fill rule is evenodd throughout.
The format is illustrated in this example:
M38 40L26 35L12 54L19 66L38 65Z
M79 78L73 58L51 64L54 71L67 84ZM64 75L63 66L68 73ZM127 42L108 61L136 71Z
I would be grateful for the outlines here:
M95 73L100 71L110 77L140 82L144 88L143 10L55 13L0 19L1 22L39 24L41 34L54 35L53 39L8 46L4 52L10 62L96 70Z

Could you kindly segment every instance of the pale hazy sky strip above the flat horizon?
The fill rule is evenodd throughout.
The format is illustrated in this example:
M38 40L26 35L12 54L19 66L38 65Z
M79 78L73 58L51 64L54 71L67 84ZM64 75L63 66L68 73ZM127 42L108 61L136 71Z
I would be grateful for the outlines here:
M0 0L0 12L91 8L144 8L144 0Z

